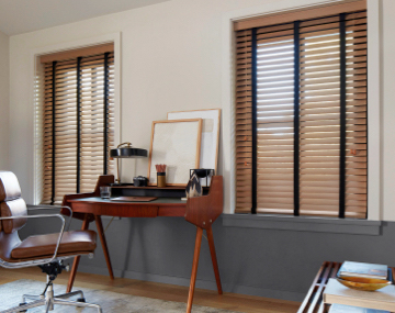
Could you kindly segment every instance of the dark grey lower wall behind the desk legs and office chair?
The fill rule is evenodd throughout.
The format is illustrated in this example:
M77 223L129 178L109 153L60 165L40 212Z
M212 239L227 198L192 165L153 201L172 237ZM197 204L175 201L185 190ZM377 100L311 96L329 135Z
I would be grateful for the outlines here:
M393 222L373 222L376 232L369 230L366 234L358 234L357 231L354 234L337 228L337 223L332 226L326 224L327 228L323 232L317 228L319 225L306 230L301 226L276 230L274 226L279 221L275 217L266 221L262 228L250 227L248 223L236 225L232 219L223 215L213 225L219 272L226 292L302 301L325 260L395 266ZM104 228L110 221L110 217L103 217ZM270 227L271 223L273 228ZM80 225L79 221L74 221L71 228L79 228ZM25 237L43 230L54 232L57 227L49 222L34 221L20 233L21 237ZM95 230L94 223L90 227ZM332 227L334 232L328 227ZM105 236L116 277L189 286L195 227L184 219L116 217L106 228ZM100 242L93 259L81 258L79 270L104 275L103 279L110 279ZM78 282L78 275L76 280ZM216 288L205 239L202 243L196 287Z

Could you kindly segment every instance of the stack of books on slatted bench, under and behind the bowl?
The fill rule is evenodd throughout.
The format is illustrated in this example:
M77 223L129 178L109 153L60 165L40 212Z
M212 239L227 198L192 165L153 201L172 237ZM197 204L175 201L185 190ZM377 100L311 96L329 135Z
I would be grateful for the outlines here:
M346 261L338 271L339 278L374 278L386 280L388 267L384 265ZM395 312L395 286L376 291L350 289L330 278L324 291L324 302L332 303L330 313L383 313ZM337 303L337 304L335 304ZM342 305L339 305L342 304ZM345 306L346 305L346 306ZM347 308L347 305L351 305ZM346 310L346 309L349 310ZM351 311L353 310L353 311ZM377 311L379 310L379 311ZM380 311L385 310L385 311Z

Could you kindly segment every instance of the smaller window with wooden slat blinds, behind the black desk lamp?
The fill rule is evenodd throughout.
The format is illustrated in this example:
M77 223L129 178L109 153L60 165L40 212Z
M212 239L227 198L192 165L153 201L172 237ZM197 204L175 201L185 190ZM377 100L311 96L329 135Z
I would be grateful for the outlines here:
M91 192L113 170L113 44L42 56L44 108L41 203Z

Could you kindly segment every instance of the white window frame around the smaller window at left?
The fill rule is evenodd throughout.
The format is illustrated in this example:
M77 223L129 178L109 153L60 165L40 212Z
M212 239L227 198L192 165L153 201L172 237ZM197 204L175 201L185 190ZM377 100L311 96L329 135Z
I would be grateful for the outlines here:
M121 33L112 33L108 35L102 35L98 37L91 37L87 40L70 42L70 43L61 43L53 46L41 47L32 51L32 103L34 104L34 110L36 112L37 108L42 105L42 101L40 98L35 98L35 83L34 78L41 74L43 70L43 66L41 64L41 56L46 54L55 54L65 51L84 48L89 46L95 46L106 43L114 44L114 143L121 142ZM40 124L42 121L36 119L36 114L33 114L33 153L34 153L34 167L33 167L33 204L38 204L41 201L41 177L42 177L42 152L40 146L41 141L41 132L37 132L42 127Z

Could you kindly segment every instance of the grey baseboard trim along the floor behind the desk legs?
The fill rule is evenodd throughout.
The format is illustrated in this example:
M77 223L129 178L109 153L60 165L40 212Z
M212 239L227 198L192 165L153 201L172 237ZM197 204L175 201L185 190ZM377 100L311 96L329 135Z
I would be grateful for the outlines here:
M91 267L91 266L80 265L78 267L78 270L81 272L105 275L105 276L109 275L108 269L102 268L102 267ZM131 270L122 271L119 269L113 269L113 272L114 272L115 278L123 277L123 278L128 278L128 279L137 279L137 280L145 280L145 281L187 286L187 287L190 284L190 278L185 278L185 277L174 277L174 276L138 272L138 271L131 271ZM78 275L76 278L76 284L78 286ZM196 288L216 290L216 283L214 280L208 281L208 280L198 279ZM239 284L232 284L232 283L223 283L223 290L225 292L257 295L257 297L289 300L289 301L297 301L297 302L303 301L303 299L305 297L305 293L300 293L300 292L257 288L257 287L249 287L249 286L239 286Z

